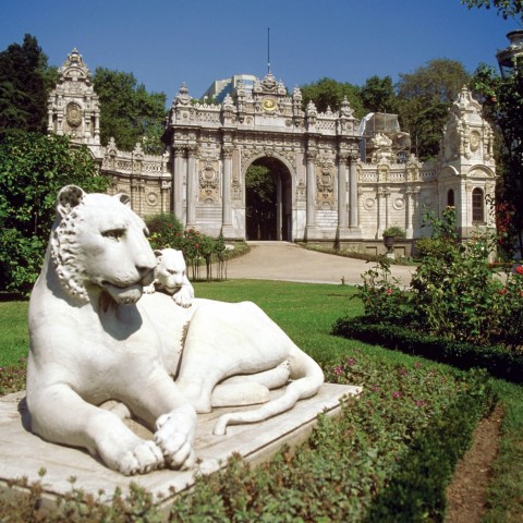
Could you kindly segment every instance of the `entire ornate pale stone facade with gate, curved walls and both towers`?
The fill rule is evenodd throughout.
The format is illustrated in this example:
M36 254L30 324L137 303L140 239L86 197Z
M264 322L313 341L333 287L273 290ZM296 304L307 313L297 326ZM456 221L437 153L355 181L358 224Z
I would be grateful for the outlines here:
M82 74L68 81L76 69ZM244 240L245 173L256 162L277 181L276 240L379 253L382 231L400 226L408 238L400 254L410 255L412 240L427 234L422 229L427 210L440 216L455 206L463 238L495 226L485 198L496 186L492 131L465 87L450 110L439 157L425 163L405 156L404 147L398 154L397 137L405 133L361 135L346 100L336 112L318 113L312 102L304 109L300 89L289 95L270 72L252 92L240 83L234 100L227 96L220 105L194 102L182 86L167 120L166 154L147 156L139 145L132 153L117 150L113 142L99 145L97 99L77 51L60 73L50 96L49 131L74 131L111 177L111 193L127 193L142 216L171 210L187 228ZM63 117L71 104L82 117L74 129Z

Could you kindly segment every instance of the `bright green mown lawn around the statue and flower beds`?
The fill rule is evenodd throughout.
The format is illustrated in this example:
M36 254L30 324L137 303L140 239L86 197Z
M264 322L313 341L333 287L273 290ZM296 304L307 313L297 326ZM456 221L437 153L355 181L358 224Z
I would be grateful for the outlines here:
M382 365L385 373L390 373L399 366L412 369L419 365L419 358L401 352L387 351L330 335L336 319L362 313L360 301L351 300L354 289L349 285L231 280L196 282L194 287L196 295L200 297L230 302L251 300L257 303L299 346L330 373L332 366L342 358L345 361L348 355L356 355L357 358L357 354L361 354L362 361L365 358L375 362L373 365L377 365L378 369L379 365ZM0 367L3 367L0 372L0 391L3 393L24 387L20 373L28 350L27 305L27 302L0 303ZM423 366L424 369L434 368L434 372L447 373L449 376L453 373L449 367L431 362L424 361ZM367 379L362 376L363 380ZM502 424L501 449L495 463L489 495L490 508L485 521L522 521L523 387L501 380L492 380L492 384L506 405L507 416ZM427 394L433 393L437 394L438 391L427 390ZM336 474L336 471L329 471L329 474ZM205 491L205 488L211 487L202 488Z

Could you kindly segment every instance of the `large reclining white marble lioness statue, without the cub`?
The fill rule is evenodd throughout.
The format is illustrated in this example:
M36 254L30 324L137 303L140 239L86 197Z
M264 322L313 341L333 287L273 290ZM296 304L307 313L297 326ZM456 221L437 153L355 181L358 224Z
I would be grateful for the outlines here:
M323 385L319 366L256 305L195 299L180 307L144 294L157 259L129 198L58 195L57 219L29 303L27 405L46 440L88 449L123 474L188 469L196 413L265 402L218 418L254 423L282 413ZM285 386L276 400L268 389ZM117 411L150 427L144 440Z

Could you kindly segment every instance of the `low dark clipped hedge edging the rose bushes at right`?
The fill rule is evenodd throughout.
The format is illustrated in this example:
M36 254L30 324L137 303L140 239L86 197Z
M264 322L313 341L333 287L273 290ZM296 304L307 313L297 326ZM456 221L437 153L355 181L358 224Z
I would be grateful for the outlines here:
M458 368L486 368L490 376L523 382L523 354L502 346L481 346L434 338L397 325L372 324L365 317L341 318L332 333L428 357Z

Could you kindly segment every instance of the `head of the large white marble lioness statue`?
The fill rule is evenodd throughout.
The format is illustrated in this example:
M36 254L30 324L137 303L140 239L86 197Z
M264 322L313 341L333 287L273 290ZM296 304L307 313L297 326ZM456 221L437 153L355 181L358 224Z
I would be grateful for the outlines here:
M88 289L101 289L117 303L135 303L156 267L146 233L126 196L63 187L50 242L62 285L84 302L89 301Z

